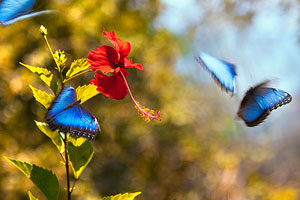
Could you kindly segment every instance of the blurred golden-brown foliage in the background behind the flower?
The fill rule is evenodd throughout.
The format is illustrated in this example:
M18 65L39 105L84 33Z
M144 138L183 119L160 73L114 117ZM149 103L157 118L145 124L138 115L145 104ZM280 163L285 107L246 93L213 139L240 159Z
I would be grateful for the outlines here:
M242 13L236 8L257 2L267 0L196 1L209 23L222 18L241 30L252 23L257 7ZM284 2L280 6L288 10ZM191 51L196 29L203 24L172 33L156 25L165 8L160 0L39 0L35 10L59 12L0 27L0 154L52 169L63 191L59 154L33 121L44 121L45 110L34 101L28 84L46 86L19 62L54 66L39 33L41 24L48 28L52 49L63 49L68 63L110 45L102 34L105 28L131 43L129 58L144 70L129 70L128 83L142 105L161 111L163 121L146 124L128 95L116 101L99 94L86 102L102 132L93 142L95 155L77 183L74 199L136 191L143 200L299 199L299 123L290 123L284 137L274 137L270 124L249 135L236 120L236 98L213 81L195 80L198 73L209 77L202 69L194 76L176 70L177 60ZM86 74L69 84L76 87L92 78ZM293 108L299 108L297 94L293 97ZM43 198L10 163L0 159L0 166L1 199L27 199L28 190Z

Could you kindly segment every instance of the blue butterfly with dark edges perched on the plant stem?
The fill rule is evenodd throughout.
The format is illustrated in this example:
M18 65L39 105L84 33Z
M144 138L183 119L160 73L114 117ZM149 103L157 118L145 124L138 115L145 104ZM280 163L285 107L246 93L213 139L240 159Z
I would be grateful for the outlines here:
M46 121L52 131L59 130L78 137L93 140L100 131L97 119L80 105L76 91L65 86L53 100L46 113Z

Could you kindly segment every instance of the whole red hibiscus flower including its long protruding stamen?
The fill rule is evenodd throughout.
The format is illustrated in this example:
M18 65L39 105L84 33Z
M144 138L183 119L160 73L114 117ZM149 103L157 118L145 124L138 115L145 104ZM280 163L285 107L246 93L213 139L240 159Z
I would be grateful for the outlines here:
M117 38L114 31L106 32L103 30L103 34L114 48L102 45L89 53L88 61L91 64L90 67L97 72L95 80L91 80L91 84L96 85L97 90L105 97L111 97L112 99L123 99L129 93L136 109L145 121L149 122L151 119L160 120L159 111L155 113L153 110L142 107L135 101L125 79L125 76L129 75L125 68L143 70L141 64L132 63L132 60L127 58L131 49L130 43ZM109 72L113 75L106 75Z

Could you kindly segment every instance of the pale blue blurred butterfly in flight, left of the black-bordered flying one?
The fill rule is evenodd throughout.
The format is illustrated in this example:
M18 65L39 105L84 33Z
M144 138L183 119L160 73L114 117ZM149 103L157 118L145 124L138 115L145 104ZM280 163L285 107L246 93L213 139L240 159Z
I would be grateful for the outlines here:
M224 60L220 60L204 52L196 55L198 63L208 70L218 85L226 92L235 93L235 66Z

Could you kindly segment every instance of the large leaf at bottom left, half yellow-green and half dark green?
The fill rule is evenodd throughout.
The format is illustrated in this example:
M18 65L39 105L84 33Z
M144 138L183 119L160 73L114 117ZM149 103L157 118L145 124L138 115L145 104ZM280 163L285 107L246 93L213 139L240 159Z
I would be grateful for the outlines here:
M40 188L49 200L55 200L58 198L59 183L56 175L51 170L5 156L4 158L25 174L25 176L27 176L38 188Z

